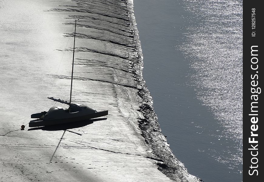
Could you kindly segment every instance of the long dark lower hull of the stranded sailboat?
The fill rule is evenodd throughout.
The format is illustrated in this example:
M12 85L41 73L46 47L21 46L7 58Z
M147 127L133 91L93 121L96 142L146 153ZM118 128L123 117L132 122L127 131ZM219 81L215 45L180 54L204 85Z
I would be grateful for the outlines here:
M72 123L72 122L89 120L89 119L93 119L93 118L97 118L97 117L101 117L101 116L106 116L106 115L108 115L108 110L95 112L95 113L87 114L87 115L84 115L84 116L65 118L65 119L32 120L32 121L29 122L29 127L51 126L51 125Z

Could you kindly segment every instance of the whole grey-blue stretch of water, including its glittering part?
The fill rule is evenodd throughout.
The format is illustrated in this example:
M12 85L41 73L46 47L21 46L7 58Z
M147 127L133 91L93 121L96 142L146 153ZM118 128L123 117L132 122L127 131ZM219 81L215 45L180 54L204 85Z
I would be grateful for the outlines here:
M143 76L173 153L205 182L242 181L242 1L134 6Z

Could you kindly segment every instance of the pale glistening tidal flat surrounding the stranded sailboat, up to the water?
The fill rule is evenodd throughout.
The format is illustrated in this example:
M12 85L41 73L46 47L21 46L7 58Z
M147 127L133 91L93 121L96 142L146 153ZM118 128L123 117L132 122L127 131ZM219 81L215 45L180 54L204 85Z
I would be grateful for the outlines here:
M1 181L199 181L161 134L132 0L4 0L0 9ZM32 113L54 105L48 96L69 100L75 19L73 102L109 115L28 130Z

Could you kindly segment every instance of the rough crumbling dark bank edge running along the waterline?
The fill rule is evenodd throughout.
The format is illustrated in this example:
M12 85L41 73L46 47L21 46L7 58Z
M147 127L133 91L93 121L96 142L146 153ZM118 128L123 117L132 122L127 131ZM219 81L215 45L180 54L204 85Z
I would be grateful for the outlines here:
M142 131L141 135L144 137L146 143L151 147L153 153L162 160L162 162L157 163L157 166L163 174L175 181L202 182L200 178L188 173L184 164L172 153L166 137L161 133L160 124L157 120L157 114L153 108L153 100L142 75L143 54L137 30L137 23L134 16L133 0L127 0L127 8L130 13L130 21L132 22L132 28L134 30L134 41L136 45L135 51L137 52L137 59L139 62L138 65L134 65L134 70L138 88L140 88L138 95L143 100L139 110L144 116L143 119L139 120L139 128Z

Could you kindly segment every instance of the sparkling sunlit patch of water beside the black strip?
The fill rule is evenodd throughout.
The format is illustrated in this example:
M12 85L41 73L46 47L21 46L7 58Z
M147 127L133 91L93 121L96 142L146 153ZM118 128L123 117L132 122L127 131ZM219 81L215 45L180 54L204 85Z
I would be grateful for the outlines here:
M224 128L212 135L225 147L212 143L201 152L242 173L242 1L183 0L182 6L192 15L183 17L190 26L180 47L190 63L189 86Z

